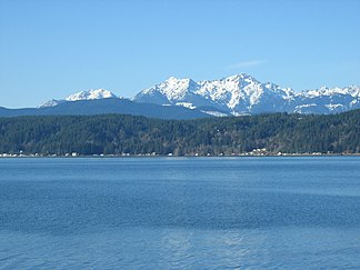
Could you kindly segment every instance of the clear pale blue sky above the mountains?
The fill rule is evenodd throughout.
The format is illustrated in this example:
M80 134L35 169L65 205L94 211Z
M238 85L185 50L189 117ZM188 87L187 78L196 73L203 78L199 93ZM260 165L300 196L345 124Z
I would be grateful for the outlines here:
M358 0L0 0L0 107L170 76L360 84Z

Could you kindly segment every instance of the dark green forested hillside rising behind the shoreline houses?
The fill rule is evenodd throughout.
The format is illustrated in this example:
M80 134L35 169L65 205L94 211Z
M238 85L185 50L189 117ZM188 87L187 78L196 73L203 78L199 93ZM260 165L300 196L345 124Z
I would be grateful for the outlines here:
M0 153L230 156L253 149L359 153L360 110L183 121L120 114L0 118Z

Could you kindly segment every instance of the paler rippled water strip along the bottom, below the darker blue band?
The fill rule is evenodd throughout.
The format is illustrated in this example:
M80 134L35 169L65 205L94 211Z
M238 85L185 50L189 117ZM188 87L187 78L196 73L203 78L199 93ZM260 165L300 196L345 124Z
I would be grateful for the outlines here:
M13 268L359 268L360 229L131 229L54 237L0 233L0 264Z

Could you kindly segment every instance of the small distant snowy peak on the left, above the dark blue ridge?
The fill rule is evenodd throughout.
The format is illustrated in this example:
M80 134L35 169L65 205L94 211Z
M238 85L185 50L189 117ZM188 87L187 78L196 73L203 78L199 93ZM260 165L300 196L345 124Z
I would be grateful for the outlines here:
M81 91L81 92L70 94L66 99L49 100L49 101L44 102L43 104L39 106L38 108L54 107L54 106L58 106L66 101L96 100L96 99L109 99L109 98L118 98L118 97L106 89L96 89L96 90L91 89L91 90Z

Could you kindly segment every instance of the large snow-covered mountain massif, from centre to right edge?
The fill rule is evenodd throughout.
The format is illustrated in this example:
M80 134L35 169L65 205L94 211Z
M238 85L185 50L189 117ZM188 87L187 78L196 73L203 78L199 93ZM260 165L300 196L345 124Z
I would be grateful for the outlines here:
M138 93L133 101L198 108L217 114L260 112L333 113L360 108L360 88L321 88L296 92L248 74L196 82L169 78Z

